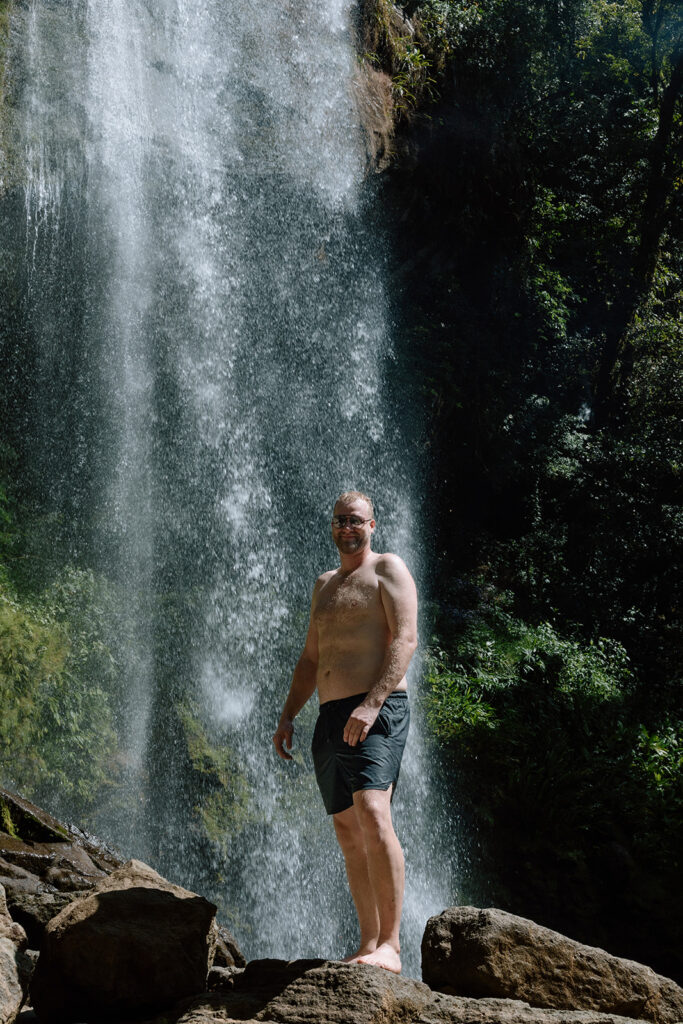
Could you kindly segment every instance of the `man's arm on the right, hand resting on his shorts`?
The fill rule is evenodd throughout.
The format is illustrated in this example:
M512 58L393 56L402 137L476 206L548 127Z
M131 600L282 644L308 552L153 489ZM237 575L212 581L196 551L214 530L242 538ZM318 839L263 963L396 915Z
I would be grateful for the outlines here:
M350 746L366 738L382 705L408 672L418 645L418 595L408 567L397 555L383 555L377 563L377 574L391 641L377 682L344 727L344 739Z

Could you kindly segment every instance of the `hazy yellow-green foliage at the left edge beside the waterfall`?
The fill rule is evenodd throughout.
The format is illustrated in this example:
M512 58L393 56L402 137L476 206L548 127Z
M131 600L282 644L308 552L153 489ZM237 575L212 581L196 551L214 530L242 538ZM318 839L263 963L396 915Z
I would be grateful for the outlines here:
M0 455L7 478L12 453ZM41 586L22 513L0 486L0 776L87 823L118 773L112 595L73 566Z

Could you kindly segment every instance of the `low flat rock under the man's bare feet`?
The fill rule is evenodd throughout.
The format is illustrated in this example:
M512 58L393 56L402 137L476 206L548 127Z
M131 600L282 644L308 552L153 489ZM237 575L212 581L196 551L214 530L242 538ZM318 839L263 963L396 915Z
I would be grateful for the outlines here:
M380 968L326 961L252 961L226 988L186 1000L156 1024L627 1024L594 1011L458 998Z

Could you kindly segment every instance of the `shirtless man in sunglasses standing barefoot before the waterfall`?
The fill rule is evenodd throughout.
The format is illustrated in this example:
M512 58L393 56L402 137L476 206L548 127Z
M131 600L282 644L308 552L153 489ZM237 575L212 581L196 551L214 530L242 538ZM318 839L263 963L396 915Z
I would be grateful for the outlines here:
M315 775L344 854L360 926L345 963L400 973L403 854L391 822L410 711L405 673L417 646L417 594L396 555L371 550L371 500L340 496L332 538L341 566L313 588L310 624L272 740L291 760L293 722L317 688Z

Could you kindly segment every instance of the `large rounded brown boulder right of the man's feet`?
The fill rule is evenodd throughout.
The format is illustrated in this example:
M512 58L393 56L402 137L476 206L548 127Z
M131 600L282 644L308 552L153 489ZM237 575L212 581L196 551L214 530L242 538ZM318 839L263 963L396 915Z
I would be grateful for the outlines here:
M455 995L524 999L656 1022L683 1020L683 990L633 961L504 910L454 906L427 923L422 976Z

